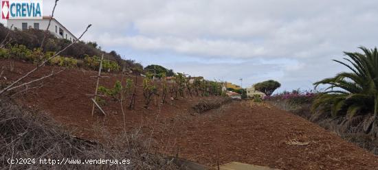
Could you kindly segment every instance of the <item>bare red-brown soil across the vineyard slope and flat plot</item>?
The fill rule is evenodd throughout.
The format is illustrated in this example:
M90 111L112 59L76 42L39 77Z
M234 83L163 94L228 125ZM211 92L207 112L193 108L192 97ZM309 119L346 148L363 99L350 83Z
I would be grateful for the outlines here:
M0 60L0 69L3 65L8 66L8 61ZM14 71L5 71L3 76L15 80L32 68L32 64L16 62ZM48 74L52 68L46 66L34 76ZM68 69L41 82L43 87L19 95L19 102L44 110L74 130L76 136L92 138L93 125L98 122L112 134L119 134L124 124L118 102L107 101L107 117L98 113L91 117L87 94L95 88L93 75L95 71ZM103 78L100 84L108 87L122 79L122 75L105 75L109 79ZM178 153L181 158L208 166L216 165L219 157L220 164L237 161L277 169L378 169L377 156L289 112L267 104L251 107L247 101L234 101L195 114L191 107L198 99L169 100L164 106L151 104L151 108L144 109L142 90L138 88L135 110L124 106L126 130L141 128L160 144L161 152ZM287 144L293 140L309 144Z

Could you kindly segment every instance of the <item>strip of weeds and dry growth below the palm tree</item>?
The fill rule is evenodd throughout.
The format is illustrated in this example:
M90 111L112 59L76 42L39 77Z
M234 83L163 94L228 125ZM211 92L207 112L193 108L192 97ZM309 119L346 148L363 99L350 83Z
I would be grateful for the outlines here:
M378 155L378 141L373 141L368 132L371 130L372 115L359 115L348 119L344 116L331 117L327 112L311 112L311 106L318 93L313 91L293 90L293 92L280 93L265 97L272 106L317 123L321 127L355 143L373 154Z

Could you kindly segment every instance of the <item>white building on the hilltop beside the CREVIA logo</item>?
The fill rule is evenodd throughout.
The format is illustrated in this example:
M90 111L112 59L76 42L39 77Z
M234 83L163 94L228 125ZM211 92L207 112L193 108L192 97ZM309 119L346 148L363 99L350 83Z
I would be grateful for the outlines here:
M47 25L49 25L49 19L51 19L50 16L43 16L43 19L9 19L6 25L8 28L13 25L13 29L19 30L26 30L29 28L46 30ZM54 18L51 21L49 31L57 38L65 38L71 41L77 39L74 34L71 34L65 26Z

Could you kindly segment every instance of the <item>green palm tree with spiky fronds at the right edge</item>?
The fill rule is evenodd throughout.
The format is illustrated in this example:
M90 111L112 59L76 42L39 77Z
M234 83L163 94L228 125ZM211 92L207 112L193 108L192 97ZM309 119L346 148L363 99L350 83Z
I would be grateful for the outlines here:
M378 123L378 51L359 47L364 53L344 52L346 62L333 60L348 67L351 73L339 73L335 77L316 82L329 85L324 93L318 95L313 110L331 112L337 116L345 114L351 118L356 114L374 113L373 127ZM373 133L375 133L373 128Z

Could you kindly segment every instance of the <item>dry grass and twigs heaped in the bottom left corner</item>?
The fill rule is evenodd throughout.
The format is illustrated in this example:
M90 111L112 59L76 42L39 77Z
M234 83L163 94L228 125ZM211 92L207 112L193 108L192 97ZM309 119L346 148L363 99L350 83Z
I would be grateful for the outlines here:
M69 135L45 114L25 111L10 99L0 99L0 169L178 169L159 154L152 154L142 132L111 136L98 127L101 143ZM35 158L32 165L9 165L9 158ZM129 165L41 165L39 158L56 160L131 160Z

